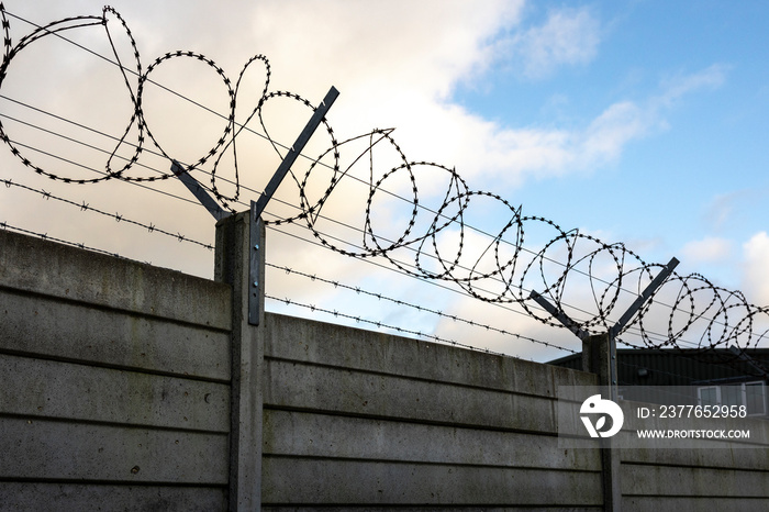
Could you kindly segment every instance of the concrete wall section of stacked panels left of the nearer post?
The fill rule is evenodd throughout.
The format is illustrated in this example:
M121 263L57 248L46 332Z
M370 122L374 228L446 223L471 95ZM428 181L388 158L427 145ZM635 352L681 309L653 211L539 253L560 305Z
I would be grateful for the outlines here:
M0 231L0 509L222 510L230 287Z

